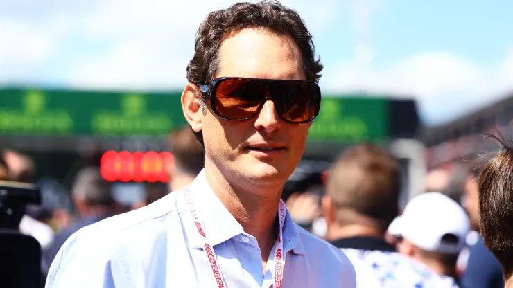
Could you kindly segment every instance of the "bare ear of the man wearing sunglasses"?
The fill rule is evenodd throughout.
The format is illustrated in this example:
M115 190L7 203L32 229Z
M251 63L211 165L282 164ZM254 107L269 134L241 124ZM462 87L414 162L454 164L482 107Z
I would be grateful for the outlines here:
M185 120L195 132L200 132L202 129L202 107L200 107L198 92L199 88L191 83L187 84L182 92L182 110Z

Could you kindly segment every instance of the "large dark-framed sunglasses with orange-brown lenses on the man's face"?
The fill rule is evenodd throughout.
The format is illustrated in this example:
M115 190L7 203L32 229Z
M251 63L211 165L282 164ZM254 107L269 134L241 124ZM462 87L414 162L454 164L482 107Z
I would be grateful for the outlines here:
M308 123L320 110L320 88L311 81L223 77L198 87L212 111L227 120L249 120L267 100L288 123Z

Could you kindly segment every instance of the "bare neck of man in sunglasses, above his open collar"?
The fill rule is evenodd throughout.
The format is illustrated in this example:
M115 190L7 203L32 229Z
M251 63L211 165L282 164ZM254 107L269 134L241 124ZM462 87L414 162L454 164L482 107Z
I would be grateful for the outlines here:
M207 163L205 177L216 196L241 224L245 233L257 238L262 262L267 262L277 237L276 219L281 188L272 193L272 188L255 187L244 179L228 181L218 168Z

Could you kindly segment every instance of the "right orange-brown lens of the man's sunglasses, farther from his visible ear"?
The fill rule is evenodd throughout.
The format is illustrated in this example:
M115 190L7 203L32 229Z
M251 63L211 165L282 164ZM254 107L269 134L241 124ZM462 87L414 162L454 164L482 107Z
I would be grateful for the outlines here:
M288 122L312 120L319 113L320 91L315 84L279 84L272 94L278 114Z

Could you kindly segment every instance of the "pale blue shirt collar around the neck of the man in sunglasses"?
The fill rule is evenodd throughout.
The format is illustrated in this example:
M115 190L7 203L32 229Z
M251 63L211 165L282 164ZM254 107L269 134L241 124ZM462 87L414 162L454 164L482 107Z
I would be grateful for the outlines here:
M216 246L223 243L236 235L244 233L244 229L229 213L224 204L216 196L205 177L205 168L198 174L188 187L195 205L198 207L200 217L205 224L205 230L210 238L210 244ZM187 223L189 223L189 231L193 234L190 237L191 246L194 249L202 249L205 244L203 238L198 234L189 211L186 211ZM283 227L284 251L293 251L296 254L303 255L304 248L299 237L299 226L293 222L288 210L285 213L285 222Z

